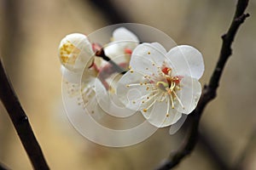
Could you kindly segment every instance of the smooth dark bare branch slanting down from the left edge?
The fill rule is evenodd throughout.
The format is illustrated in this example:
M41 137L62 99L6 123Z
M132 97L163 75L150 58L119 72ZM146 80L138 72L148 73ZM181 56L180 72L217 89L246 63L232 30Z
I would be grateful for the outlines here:
M7 75L5 74L1 59L0 82L0 99L2 100L10 119L15 126L15 130L20 137L21 143L23 144L30 161L32 162L32 166L36 170L49 169L44 159L43 152L32 131L32 127L30 126L28 117L26 116L25 111L22 109L20 101L17 98Z

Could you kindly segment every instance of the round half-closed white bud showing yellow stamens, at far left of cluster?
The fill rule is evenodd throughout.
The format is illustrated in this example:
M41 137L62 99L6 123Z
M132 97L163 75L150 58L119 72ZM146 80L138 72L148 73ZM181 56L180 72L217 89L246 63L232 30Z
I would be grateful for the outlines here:
M73 33L61 40L59 58L69 71L81 71L84 65L92 62L92 55L91 44L83 34Z

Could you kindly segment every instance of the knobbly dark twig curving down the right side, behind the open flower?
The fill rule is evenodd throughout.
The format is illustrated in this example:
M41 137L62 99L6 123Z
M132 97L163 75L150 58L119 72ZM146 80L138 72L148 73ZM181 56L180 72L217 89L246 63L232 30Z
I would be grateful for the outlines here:
M203 89L201 99L199 104L191 114L189 114L190 131L187 138L184 140L181 147L173 152L168 160L164 162L158 170L171 169L172 167L177 166L177 164L183 160L185 156L188 156L192 150L195 148L195 144L198 139L198 126L201 118L201 114L204 111L206 105L216 97L218 83L222 72L224 71L224 65L232 54L231 44L234 41L236 36L236 31L243 21L249 16L249 14L244 14L245 9L247 8L248 0L238 0L236 5L236 14L232 20L231 26L224 36L222 36L223 44L218 58L218 63L215 67L215 70L212 73L212 77L208 86L206 85Z

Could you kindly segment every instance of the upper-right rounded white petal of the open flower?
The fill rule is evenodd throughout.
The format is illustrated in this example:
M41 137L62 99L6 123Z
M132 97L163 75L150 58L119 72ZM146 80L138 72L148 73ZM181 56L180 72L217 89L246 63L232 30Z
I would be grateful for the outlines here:
M186 75L200 79L203 75L204 61L197 49L188 45L181 45L172 48L166 55L179 76Z

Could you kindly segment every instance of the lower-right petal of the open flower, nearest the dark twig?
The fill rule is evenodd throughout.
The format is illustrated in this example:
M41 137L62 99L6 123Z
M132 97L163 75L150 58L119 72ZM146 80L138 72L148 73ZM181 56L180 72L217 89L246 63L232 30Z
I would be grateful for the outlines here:
M195 110L195 106L200 99L201 83L195 78L183 77L180 84L181 89L177 90L176 93L178 98L181 100L183 107L178 105L176 99L175 109L183 114L189 114Z

